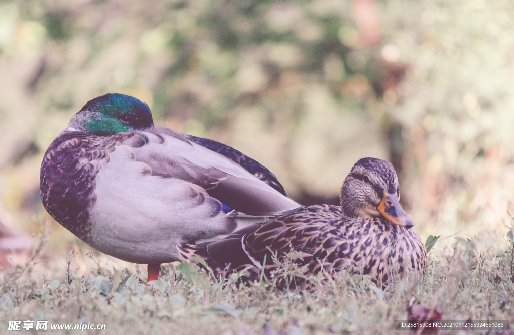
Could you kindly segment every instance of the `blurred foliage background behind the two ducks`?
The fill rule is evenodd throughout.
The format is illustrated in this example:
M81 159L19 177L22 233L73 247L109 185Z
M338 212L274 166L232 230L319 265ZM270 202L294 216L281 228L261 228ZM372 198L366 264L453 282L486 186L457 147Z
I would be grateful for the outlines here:
M303 204L338 203L359 158L388 159L422 239L463 230L501 248L513 24L508 0L4 0L0 221L49 220L67 254L42 156L88 100L122 92L156 124L258 160Z

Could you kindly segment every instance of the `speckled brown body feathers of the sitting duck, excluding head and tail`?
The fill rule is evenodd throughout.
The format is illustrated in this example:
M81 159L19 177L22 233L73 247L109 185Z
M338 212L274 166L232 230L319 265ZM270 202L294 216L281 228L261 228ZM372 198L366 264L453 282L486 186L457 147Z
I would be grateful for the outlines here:
M315 205L265 222L243 238L245 251L262 264L271 265L271 253L282 260L292 250L296 263L328 274L341 270L370 274L387 283L390 276L412 270L423 275L426 250L414 230L392 225L385 218L346 218L340 207ZM268 249L269 248L269 249Z

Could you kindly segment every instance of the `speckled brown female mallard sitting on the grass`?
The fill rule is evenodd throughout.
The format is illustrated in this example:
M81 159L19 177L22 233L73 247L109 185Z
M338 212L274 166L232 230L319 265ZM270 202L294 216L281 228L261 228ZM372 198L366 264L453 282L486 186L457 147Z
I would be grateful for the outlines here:
M180 253L187 262L198 256L218 270L250 266L251 272L260 273L264 262L266 272L276 267L272 252L280 261L292 249L298 256L295 263L313 273L348 270L369 274L382 284L407 272L424 275L427 252L398 203L398 178L391 163L359 160L340 196L341 206L300 208L212 243L181 243Z

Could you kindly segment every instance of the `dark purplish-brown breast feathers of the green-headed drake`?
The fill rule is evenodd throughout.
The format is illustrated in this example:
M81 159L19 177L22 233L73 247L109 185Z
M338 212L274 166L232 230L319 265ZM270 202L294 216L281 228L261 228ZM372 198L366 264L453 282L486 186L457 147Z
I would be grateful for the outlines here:
M46 210L86 243L91 226L88 209L96 201L97 162L109 159L116 144L132 137L124 133L97 137L82 132L63 132L48 147L41 164L40 192Z

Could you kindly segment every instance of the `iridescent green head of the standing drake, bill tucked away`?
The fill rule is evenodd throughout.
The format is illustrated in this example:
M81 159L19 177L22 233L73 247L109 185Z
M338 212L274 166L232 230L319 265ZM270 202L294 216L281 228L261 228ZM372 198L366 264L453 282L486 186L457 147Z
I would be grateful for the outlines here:
M96 136L152 127L152 113L141 100L114 93L89 100L68 126Z

